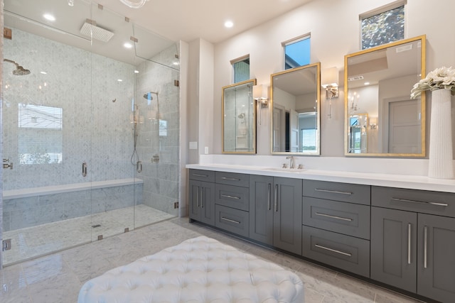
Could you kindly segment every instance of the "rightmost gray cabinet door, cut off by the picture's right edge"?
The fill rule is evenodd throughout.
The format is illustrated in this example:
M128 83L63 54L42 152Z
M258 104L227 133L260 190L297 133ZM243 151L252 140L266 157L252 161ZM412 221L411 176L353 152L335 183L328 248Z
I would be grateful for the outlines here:
M455 302L455 218L419 214L417 293Z

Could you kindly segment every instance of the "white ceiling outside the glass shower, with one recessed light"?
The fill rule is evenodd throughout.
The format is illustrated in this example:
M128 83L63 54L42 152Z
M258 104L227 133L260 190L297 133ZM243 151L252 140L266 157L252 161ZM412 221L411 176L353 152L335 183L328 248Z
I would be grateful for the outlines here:
M130 9L120 0L98 0L97 3L173 41L203 38L218 43L310 1L148 0L141 9ZM227 20L234 23L232 28L224 27Z

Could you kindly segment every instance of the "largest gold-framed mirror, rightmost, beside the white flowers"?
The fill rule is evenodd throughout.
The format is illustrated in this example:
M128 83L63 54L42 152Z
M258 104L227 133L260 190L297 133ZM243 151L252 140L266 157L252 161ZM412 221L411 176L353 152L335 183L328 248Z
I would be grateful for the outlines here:
M345 56L346 155L425 155L425 36Z

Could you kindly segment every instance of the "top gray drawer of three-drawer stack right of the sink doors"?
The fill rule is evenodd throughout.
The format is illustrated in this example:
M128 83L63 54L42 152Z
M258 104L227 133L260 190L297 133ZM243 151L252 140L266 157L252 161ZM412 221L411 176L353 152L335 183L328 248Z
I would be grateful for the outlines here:
M370 205L370 185L304 180L305 197Z

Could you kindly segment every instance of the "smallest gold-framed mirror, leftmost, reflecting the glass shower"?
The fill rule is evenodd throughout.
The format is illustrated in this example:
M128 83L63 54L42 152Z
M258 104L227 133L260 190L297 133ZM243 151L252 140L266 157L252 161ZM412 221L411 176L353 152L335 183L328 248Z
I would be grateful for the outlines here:
M256 153L256 79L223 87L223 153Z

